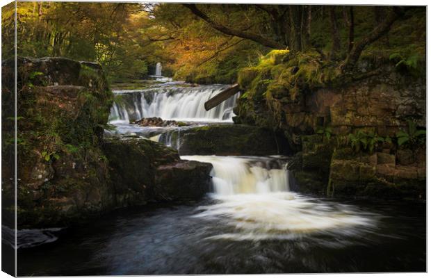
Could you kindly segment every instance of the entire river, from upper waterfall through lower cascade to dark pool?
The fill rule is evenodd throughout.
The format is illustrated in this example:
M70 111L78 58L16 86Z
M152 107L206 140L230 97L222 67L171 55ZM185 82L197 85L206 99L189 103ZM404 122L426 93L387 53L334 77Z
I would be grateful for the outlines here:
M106 136L178 147L184 127L129 124L161 117L232 124L236 96L204 111L224 85L117 91ZM211 163L200 202L122 209L85 226L21 231L19 275L162 275L425 271L425 205L296 193L282 156L181 156ZM23 236L25 238L25 236ZM34 240L37 238L37 240ZM44 244L40 244L44 243Z

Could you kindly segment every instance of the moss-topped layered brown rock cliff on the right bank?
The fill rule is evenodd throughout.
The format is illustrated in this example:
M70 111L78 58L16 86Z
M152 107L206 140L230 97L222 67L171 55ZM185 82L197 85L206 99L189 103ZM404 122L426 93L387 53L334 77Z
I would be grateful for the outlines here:
M399 141L425 129L425 79L375 60L341 74L316 57L270 54L240 72L236 122L284 132L301 190L425 197L424 136Z

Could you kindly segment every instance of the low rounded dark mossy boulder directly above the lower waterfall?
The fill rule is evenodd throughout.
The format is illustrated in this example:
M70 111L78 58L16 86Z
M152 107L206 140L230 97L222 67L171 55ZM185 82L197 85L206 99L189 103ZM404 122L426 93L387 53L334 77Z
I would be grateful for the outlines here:
M180 133L179 154L250 155L287 154L283 136L270 129L244 124L215 124Z

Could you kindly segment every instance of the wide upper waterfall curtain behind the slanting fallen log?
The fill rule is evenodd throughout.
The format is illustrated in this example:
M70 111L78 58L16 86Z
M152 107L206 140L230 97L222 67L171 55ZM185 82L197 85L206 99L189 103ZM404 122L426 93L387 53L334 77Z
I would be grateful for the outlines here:
M122 95L122 105L113 104L109 120L129 122L129 119L161 117L163 120L231 122L238 95L230 97L210 111L205 111L204 108L205 101L225 88L226 85L201 85L114 91L115 94Z

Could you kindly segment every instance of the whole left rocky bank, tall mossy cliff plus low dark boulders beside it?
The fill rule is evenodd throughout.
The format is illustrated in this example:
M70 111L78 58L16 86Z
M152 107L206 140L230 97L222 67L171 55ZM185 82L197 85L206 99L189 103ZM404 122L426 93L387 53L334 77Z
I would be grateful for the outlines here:
M2 70L2 97L10 100L3 102L3 116L13 115L13 106L4 104L13 104L15 97L14 60L4 61ZM117 206L161 200L161 196L176 199L179 190L172 188L184 182L183 173L191 176L201 173L193 176L194 191L190 195L202 196L209 183L209 165L179 161L177 152L157 143L150 147L136 143L145 145L145 152L135 152L129 141L115 143L115 150L130 151L131 156L104 152L102 135L112 102L113 94L104 72L95 63L67 58L18 58L19 228L65 225ZM13 126L14 120L3 117L3 123L9 126ZM8 144L3 144L3 157L14 153L13 134L9 137L6 138ZM120 169L131 175L126 177L119 173L117 165L123 165ZM163 168L158 169L161 166ZM175 174L166 174L168 169ZM3 163L2 171L13 177L13 165ZM157 175L158 172L161 174ZM169 177L181 177L181 183ZM199 192L197 179L202 181ZM4 184L3 189L7 190ZM147 189L143 190L143 186ZM178 196L188 197L184 192Z

